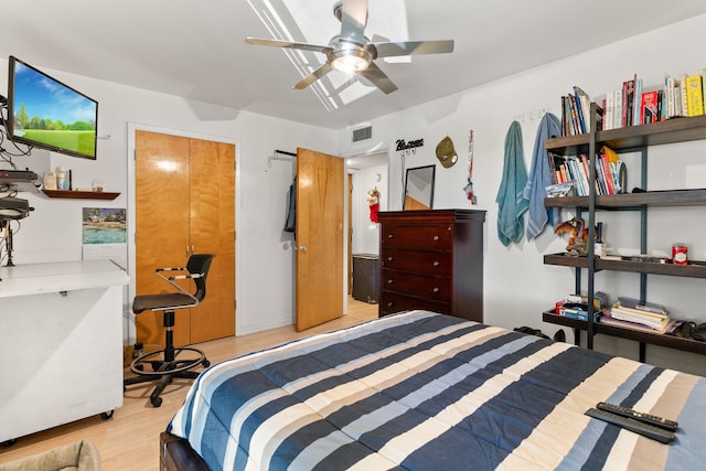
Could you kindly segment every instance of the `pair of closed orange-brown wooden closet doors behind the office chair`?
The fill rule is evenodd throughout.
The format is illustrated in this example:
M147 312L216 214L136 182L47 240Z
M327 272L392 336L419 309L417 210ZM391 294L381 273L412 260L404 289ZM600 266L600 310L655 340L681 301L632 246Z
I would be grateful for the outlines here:
M235 147L148 131L136 133L136 290L168 292L158 267L216 254L206 299L176 311L174 344L235 334ZM184 288L192 291L193 282ZM137 339L163 344L161 312L137 317Z

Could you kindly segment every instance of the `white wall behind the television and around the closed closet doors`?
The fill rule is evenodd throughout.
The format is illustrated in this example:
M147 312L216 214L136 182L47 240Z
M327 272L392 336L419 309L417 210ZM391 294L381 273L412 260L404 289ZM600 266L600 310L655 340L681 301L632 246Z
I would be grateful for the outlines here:
M76 186L88 186L99 178L106 191L121 194L115 201L95 201L50 200L40 193L22 193L35 211L21 221L14 237L15 264L81 259L84 206L127 207L128 216L133 217L133 195L128 193L133 181L128 174L132 156L128 124L236 142L236 331L245 334L292 323L293 238L282 227L293 163L274 161L268 167L267 161L276 149L296 152L297 147L304 147L335 153L333 131L52 71L32 63L31 57L24 60L98 100L98 133L110 138L98 140L96 161L34 151L31 159L17 158L15 163L38 173L64 165L73 170ZM3 60L0 69L4 68ZM7 82L0 82L0 89L7 89ZM128 231L132 238L133 227ZM126 299L131 300L132 293ZM127 306L125 312L130 319Z

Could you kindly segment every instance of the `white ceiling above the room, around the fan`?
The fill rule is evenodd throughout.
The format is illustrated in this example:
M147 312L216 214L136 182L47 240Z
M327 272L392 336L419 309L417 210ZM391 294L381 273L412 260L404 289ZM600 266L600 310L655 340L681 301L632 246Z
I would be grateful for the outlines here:
M325 43L340 31L334 0L8 3L1 56L332 129L706 13L704 0L370 0L372 40L456 42L451 54L414 56L410 63L378 60L399 87L384 95L338 72L323 87L293 90L306 73L292 60L279 49L245 43L246 36L275 38L260 20L266 15L285 36L277 39ZM315 68L324 56L298 60Z

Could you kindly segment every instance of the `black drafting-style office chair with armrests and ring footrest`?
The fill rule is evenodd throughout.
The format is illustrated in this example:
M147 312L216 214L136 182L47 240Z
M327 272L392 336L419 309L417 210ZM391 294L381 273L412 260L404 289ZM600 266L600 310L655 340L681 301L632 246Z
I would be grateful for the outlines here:
M149 352L135 358L130 364L130 371L136 373L136 377L125 379L124 388L132 384L148 383L159 381L154 390L150 395L152 406L162 405L160 395L164 387L172 382L173 378L190 378L199 376L199 373L190 371L199 365L207 367L211 362L206 360L206 355L199 349L189 346L174 347L174 311L176 309L193 308L197 306L206 297L206 277L211 268L211 261L215 255L212 254L194 254L189 257L186 267L183 268L158 268L157 275L167 282L176 288L178 292L168 292L161 295L143 295L136 296L132 301L132 312L139 314L143 311L162 311L164 328L164 349ZM171 275L170 272L189 272L189 275ZM196 291L192 295L179 285L176 280L193 279L196 285ZM181 358L182 353L186 352L189 357ZM148 366L151 370L148 370Z

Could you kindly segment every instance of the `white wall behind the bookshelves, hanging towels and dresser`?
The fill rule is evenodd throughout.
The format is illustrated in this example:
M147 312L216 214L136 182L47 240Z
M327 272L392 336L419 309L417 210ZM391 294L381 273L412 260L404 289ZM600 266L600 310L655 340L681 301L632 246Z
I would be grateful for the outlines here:
M424 139L416 154L404 158L391 149L388 204L402 205L402 175L405 168L436 163L436 144L450 136L459 161L450 169L437 165L435 208L459 207L486 211L484 227L484 320L515 328L531 325L553 334L555 325L542 323L542 311L574 291L573 269L543 265L543 255L560 253L566 240L554 236L550 228L536 239L504 247L498 238L495 196L503 170L504 139L517 115L550 108L559 116L559 97L581 86L597 99L609 89L621 86L634 73L644 86L657 86L664 73L696 73L706 65L702 54L688 44L700 41L706 30L706 15L671 28L656 30L571 58L547 64L495 83L469 89L419 107L371 120L373 135L381 142ZM599 32L597 32L598 34ZM563 39L557 39L561 41ZM472 74L472 66L469 74ZM522 122L525 162L530 169L537 120ZM468 172L468 135L474 130L473 184L478 205L471 206L462 191ZM349 152L347 132L339 135L341 152ZM394 146L393 146L394 147ZM683 143L650 150L651 189L683 186L706 188L703 156L706 141ZM634 172L632 173L634 175ZM638 182L630 179L630 188ZM650 249L671 250L672 243L685 242L694 259L706 259L706 220L703 208L651 210ZM564 213L564 218L569 217ZM639 247L635 216L601 213L606 222L607 242L616 247ZM584 277L586 278L586 277ZM597 289L611 297L638 296L634 274L598 274ZM652 276L649 298L666 304L675 317L706 321L702 307L704 280ZM573 339L567 332L569 341ZM633 342L598 336L596 347L609 353L638 356ZM703 356L648 345L648 361L655 364L706 374Z

